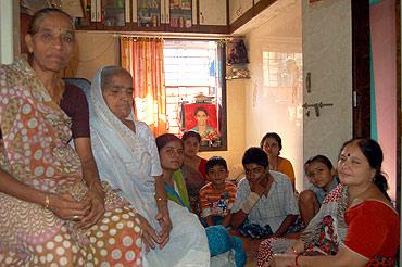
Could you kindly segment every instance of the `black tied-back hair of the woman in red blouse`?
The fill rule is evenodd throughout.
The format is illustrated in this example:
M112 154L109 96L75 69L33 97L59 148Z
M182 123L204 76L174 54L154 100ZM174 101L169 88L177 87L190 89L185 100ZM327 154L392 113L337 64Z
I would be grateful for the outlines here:
M384 173L381 171L381 165L384 161L384 154L381 147L373 139L368 138L356 138L351 139L343 143L340 152L351 143L357 144L359 149L363 153L363 155L367 158L368 164L372 168L376 170L376 174L373 178L373 182L377 186L377 188L382 192L382 194L391 201L389 198L387 190L388 190L388 182L387 178L385 177ZM340 154L340 153L339 153Z

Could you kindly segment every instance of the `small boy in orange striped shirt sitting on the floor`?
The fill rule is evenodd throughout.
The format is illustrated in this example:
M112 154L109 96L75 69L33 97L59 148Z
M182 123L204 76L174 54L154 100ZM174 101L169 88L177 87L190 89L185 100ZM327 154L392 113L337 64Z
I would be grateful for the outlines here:
M206 177L211 182L200 190L201 217L204 226L230 225L230 209L236 186L226 181L229 171L225 158L213 156L206 162Z

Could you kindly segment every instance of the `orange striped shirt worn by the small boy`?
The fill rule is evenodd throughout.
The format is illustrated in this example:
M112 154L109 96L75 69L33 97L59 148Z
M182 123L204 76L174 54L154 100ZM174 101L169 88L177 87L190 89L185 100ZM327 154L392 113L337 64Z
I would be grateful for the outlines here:
M230 213L235 203L237 188L234 183L226 181L225 189L217 192L212 187L212 182L206 183L200 190L201 216L225 217Z

